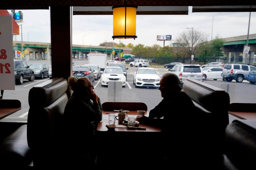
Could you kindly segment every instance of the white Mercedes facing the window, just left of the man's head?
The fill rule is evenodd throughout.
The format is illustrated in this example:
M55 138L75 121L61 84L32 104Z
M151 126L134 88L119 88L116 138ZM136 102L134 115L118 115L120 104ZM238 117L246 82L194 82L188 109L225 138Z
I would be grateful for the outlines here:
M133 84L135 87L155 87L160 86L160 76L159 73L152 67L148 68L138 68L133 74Z

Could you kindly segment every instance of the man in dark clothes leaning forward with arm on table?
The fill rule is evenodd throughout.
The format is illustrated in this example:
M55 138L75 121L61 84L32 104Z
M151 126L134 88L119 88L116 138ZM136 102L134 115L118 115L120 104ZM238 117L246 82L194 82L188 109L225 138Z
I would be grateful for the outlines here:
M191 168L195 163L194 167L198 168L196 160L193 159L197 150L194 145L197 139L195 125L198 125L195 122L194 103L185 92L181 91L180 80L175 74L165 73L158 89L163 100L149 112L149 117L138 115L136 120L141 124L162 129L161 139L155 139L154 143L152 141L152 145L161 146L164 153L160 159L161 163L175 164L178 169Z

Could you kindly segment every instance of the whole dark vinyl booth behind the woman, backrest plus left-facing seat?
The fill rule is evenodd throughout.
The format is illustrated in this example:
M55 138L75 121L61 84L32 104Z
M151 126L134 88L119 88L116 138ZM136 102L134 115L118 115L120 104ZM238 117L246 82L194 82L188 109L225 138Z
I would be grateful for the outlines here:
M62 118L68 83L53 78L30 89L27 125L7 136L0 146L1 166L58 166L62 155ZM6 161L3 161L6 160Z

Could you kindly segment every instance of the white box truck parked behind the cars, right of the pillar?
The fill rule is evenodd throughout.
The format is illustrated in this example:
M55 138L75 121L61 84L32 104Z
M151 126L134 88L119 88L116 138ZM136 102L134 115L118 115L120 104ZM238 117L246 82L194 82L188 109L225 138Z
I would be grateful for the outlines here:
M107 64L107 54L89 53L88 63L98 65L100 70L104 71Z

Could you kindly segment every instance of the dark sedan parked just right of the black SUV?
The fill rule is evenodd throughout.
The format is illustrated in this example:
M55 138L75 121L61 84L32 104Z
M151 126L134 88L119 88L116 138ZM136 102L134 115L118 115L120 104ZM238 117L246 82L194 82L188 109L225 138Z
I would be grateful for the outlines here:
M31 64L29 66L34 70L35 77L43 79L45 76L49 77L49 66L47 64Z

